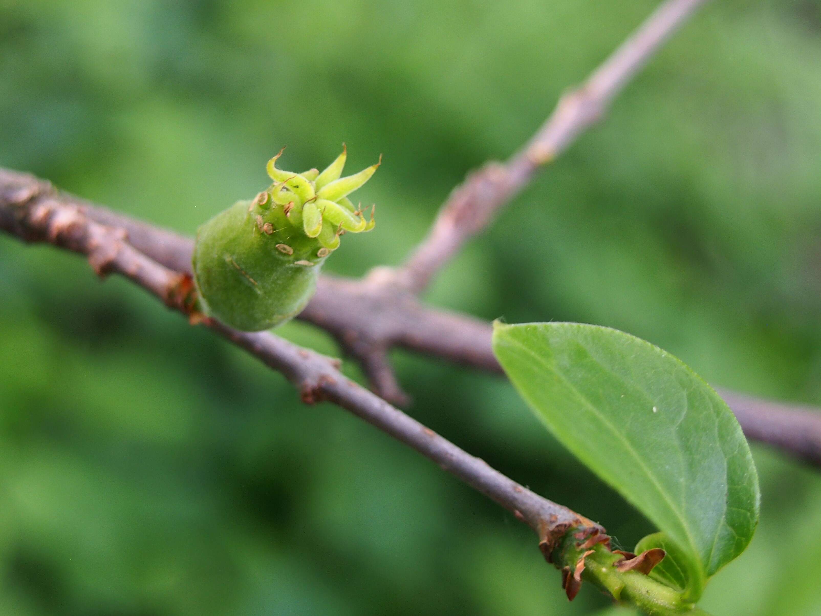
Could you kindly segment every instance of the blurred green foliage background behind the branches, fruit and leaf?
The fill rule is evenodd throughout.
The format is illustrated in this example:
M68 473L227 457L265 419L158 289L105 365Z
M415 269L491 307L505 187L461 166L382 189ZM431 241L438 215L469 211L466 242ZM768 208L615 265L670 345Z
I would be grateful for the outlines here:
M193 233L264 163L351 168L397 264L656 2L0 0L0 164ZM821 404L821 2L719 0L438 279L439 306L576 320L714 384ZM358 193L357 195L360 195ZM323 352L305 324L282 334ZM502 379L397 352L410 413L630 547L649 530ZM354 365L347 365L358 375ZM718 615L821 614L821 475L754 446ZM599 614L530 531L123 280L0 237L0 614ZM609 613L609 612L608 612Z

